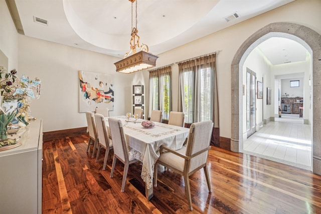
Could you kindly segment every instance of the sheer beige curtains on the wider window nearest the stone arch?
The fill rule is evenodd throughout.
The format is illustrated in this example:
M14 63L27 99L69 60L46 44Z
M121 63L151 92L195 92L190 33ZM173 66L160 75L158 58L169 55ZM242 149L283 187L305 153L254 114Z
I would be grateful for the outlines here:
M185 75L184 72L191 72L193 75ZM190 78L187 78L189 76ZM214 122L214 127L219 127L219 109L218 109L218 93L217 93L217 72L216 72L216 54L203 56L197 59L189 60L179 63L179 111L187 114L188 122L199 122L207 115L204 115L206 111L203 111L205 106L203 104L210 103L212 106L211 118ZM202 85L200 85L202 83ZM185 84L193 84L194 91L187 92L192 94L192 106L189 107L189 112L186 112L185 103L189 102L185 96ZM211 99L204 100L202 93L210 93Z

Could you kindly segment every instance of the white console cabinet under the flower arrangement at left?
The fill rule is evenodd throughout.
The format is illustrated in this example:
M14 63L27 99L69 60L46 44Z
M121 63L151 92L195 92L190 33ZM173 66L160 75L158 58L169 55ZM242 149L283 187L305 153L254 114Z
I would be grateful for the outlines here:
M22 145L0 151L0 213L42 213L42 121L16 135Z

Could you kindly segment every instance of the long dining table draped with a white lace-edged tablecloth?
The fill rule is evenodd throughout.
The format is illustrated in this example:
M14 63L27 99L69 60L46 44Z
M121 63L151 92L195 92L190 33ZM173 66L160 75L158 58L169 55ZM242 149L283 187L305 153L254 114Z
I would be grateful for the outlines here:
M105 117L108 133L110 134L108 118ZM189 128L153 122L152 128L141 125L144 119L114 116L123 124L124 134L129 147L129 153L142 163L141 178L145 182L145 195L149 200L153 196L154 164L157 161L161 146L174 150L181 149L188 137Z

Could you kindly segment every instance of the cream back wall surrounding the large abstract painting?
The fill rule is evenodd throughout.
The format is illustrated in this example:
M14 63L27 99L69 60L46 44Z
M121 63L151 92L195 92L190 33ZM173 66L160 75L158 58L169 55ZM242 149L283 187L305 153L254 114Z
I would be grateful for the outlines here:
M41 79L41 96L32 100L32 116L43 119L44 132L87 126L78 110L78 71L111 74L114 77L114 111L131 111L131 82L134 75L117 73L118 58L19 35L18 75ZM129 103L129 102L130 103Z

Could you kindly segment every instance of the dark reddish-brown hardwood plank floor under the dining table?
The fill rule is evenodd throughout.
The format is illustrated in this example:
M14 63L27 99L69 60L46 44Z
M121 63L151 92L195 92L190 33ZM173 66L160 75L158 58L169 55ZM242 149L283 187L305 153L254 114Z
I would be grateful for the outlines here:
M321 176L259 157L212 147L208 157L212 193L205 174L190 176L193 211L184 179L158 167L158 185L144 197L141 165L129 166L120 192L123 165L110 178L111 151L102 170L86 153L88 135L44 142L43 213L321 213ZM91 149L92 151L92 149Z

